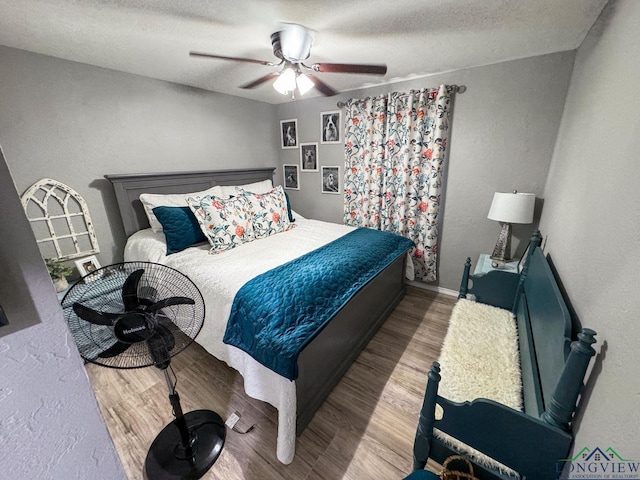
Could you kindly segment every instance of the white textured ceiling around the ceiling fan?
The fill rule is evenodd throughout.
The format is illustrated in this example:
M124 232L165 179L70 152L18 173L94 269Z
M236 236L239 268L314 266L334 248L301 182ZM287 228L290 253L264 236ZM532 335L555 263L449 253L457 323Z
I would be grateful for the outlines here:
M307 64L386 63L384 77L320 73L338 91L577 48L607 0L0 0L0 44L268 103L280 22L315 31ZM0 66L1 68L1 66ZM271 70L270 70L271 69ZM306 97L316 96L313 90Z

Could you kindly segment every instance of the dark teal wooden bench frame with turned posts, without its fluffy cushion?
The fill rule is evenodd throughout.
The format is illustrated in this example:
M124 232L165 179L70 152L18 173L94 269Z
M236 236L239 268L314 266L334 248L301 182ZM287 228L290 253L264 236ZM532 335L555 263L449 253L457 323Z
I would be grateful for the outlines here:
M436 428L523 478L558 478L563 466L560 461L567 458L571 448L571 421L590 358L595 354L591 345L596 340L594 331L572 327L540 242L536 232L520 274L494 270L470 275L471 261L467 259L459 295L473 296L477 302L514 313L523 411L486 398L456 403L440 396L440 365L434 362L416 432L415 471L424 469L428 458L442 464L448 456L461 453L434 436ZM436 405L443 410L441 418ZM513 478L502 469L471 460L478 478Z

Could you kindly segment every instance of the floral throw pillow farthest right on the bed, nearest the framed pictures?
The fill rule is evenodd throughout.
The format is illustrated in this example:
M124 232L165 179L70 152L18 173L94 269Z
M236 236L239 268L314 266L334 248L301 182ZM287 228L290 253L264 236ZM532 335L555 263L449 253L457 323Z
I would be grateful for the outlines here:
M287 200L280 185L262 194L248 192L240 187L237 187L236 191L251 205L255 238L266 238L291 228Z

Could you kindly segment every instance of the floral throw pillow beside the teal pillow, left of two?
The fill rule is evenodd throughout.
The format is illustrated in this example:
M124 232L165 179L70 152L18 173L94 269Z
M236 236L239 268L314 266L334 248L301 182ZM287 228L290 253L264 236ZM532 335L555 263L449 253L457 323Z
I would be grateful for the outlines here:
M251 204L246 197L205 195L187 197L187 203L211 244L209 253L224 252L255 239Z

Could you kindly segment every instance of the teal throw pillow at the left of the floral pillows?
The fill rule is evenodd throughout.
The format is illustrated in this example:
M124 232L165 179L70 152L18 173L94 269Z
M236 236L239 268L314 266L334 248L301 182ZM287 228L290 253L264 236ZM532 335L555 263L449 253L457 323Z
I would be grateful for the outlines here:
M167 255L207 241L189 207L156 207L153 214L162 225L167 241Z

